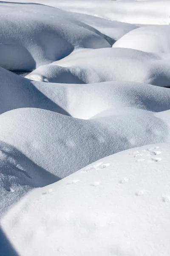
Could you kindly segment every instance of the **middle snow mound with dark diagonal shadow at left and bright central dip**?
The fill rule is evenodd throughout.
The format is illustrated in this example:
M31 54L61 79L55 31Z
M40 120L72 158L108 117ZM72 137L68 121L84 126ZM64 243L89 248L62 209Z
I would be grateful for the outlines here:
M89 119L110 108L122 107L155 112L168 110L170 90L125 81L96 84L43 83L30 81L0 68L0 113L16 108L42 108Z

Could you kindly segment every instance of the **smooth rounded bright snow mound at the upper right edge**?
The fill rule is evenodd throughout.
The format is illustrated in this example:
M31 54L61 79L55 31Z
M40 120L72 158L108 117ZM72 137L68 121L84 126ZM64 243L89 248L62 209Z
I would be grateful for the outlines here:
M135 29L120 38L113 47L170 54L170 25L144 26Z

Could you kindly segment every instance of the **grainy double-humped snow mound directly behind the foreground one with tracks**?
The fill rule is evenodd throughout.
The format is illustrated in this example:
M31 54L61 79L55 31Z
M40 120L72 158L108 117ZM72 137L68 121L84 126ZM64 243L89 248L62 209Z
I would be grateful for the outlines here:
M0 115L0 214L28 190L110 154L170 141L170 111L103 111L89 120L38 108ZM12 192L12 193L9 193Z

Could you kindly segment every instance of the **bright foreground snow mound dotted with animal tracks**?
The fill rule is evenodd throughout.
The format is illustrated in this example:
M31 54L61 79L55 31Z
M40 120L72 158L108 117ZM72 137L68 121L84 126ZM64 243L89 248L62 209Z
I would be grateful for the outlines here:
M169 156L163 143L105 157L27 194L2 228L20 256L169 256Z

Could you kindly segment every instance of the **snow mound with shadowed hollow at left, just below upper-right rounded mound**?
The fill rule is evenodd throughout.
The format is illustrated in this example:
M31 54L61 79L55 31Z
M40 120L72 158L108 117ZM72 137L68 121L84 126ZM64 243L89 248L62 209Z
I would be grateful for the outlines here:
M170 58L135 49L88 49L38 67L26 78L57 83L135 81L170 87Z

